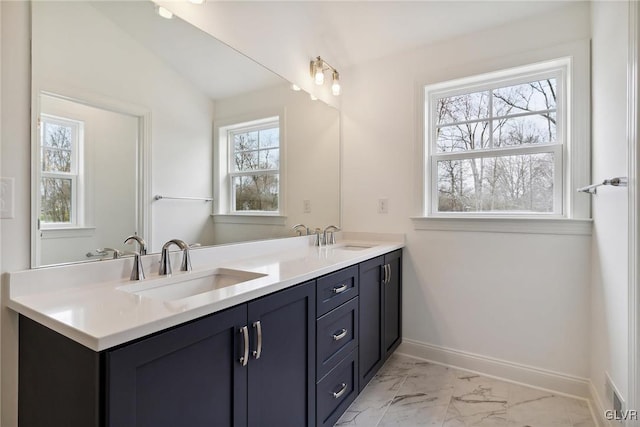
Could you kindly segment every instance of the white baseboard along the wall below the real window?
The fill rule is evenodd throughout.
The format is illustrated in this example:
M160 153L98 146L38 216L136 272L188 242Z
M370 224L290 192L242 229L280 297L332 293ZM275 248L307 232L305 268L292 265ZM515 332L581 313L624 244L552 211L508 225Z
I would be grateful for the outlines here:
M551 390L556 393L591 399L590 381L546 369L495 359L403 338L398 353L431 362L450 365L483 375Z

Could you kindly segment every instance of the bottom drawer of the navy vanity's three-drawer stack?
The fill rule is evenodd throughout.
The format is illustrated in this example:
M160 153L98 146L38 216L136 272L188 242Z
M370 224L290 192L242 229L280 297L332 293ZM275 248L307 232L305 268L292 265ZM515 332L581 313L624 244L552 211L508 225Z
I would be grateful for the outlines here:
M317 385L317 427L330 427L358 396L358 349L352 351Z

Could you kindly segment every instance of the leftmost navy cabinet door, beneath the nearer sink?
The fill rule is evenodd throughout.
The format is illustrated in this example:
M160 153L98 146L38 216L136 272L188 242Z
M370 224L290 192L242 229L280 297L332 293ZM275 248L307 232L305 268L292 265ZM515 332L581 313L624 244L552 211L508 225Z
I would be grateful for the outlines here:
M247 306L107 353L107 425L246 426Z

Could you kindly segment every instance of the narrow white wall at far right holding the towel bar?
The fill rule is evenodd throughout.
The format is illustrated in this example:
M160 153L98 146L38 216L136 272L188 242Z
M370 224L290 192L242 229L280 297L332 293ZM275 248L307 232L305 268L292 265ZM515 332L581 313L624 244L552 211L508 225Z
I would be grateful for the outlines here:
M601 182L628 174L628 2L594 2L591 22L592 175ZM593 197L590 376L608 408L605 372L622 398L628 397L628 200L626 188L602 187Z

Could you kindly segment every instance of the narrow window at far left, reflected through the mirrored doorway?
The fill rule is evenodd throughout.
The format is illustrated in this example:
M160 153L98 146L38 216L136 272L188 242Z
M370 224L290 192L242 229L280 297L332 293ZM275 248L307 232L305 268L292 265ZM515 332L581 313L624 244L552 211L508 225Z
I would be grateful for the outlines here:
M40 117L40 223L44 228L80 222L79 171L83 124Z

